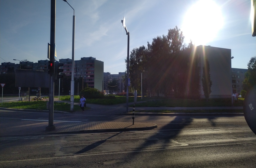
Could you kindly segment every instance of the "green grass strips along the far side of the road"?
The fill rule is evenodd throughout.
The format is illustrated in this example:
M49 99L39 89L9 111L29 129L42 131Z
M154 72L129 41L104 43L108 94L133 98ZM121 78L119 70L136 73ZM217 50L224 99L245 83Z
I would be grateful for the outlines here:
M86 99L86 103L101 104L101 105L115 105L126 103L126 96L110 95L105 96L104 99ZM61 96L61 101L70 101L70 96ZM79 96L74 96L74 102L78 103ZM243 106L244 99L238 99L234 102L234 106ZM134 97L129 97L129 102L134 102ZM34 109L34 110L47 110L47 101L14 101L9 103L0 104L3 108L15 109ZM133 106L133 103L132 105ZM168 99L159 97L137 97L136 107L229 107L232 106L231 99ZM86 109L90 109L86 107ZM70 111L70 104L65 102L54 102L54 110L56 111ZM74 105L74 111L81 111L78 105ZM224 112L223 110L143 110L137 112ZM225 112L231 112L225 110ZM232 112L243 112L242 110L232 110Z

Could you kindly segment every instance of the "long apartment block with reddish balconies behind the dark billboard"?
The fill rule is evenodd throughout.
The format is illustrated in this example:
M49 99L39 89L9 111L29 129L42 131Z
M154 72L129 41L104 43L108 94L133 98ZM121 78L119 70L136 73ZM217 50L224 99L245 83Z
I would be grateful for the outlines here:
M59 59L59 62L63 63L63 72L65 76L71 76L72 72L72 60ZM33 71L48 71L48 60L39 60L38 62L21 61L19 64L11 62L3 62L0 65L1 74L7 74L9 70L16 71L16 69L27 69ZM103 74L104 62L96 60L93 57L83 57L81 60L74 61L74 79L77 77L83 77L84 82L89 87L96 88L103 92Z

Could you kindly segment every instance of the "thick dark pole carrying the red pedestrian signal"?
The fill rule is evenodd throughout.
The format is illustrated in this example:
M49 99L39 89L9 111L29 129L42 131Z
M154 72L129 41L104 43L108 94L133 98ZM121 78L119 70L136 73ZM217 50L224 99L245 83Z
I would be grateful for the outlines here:
M50 34L50 61L54 62L54 47L55 47L55 25L56 25L56 0L51 0L51 34ZM54 74L50 74L49 83L49 124L46 126L46 131L55 130L53 125L54 117Z

